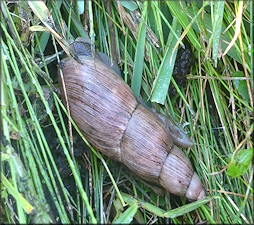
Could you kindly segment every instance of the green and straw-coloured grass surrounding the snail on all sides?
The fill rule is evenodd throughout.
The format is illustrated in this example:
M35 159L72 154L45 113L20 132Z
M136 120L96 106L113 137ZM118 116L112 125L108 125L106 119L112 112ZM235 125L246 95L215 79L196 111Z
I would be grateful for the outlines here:
M252 224L253 3L82 2L1 1L1 222ZM68 122L57 64L76 37L90 37L136 96L190 136L183 151L207 198L156 194ZM195 64L179 88L183 39Z

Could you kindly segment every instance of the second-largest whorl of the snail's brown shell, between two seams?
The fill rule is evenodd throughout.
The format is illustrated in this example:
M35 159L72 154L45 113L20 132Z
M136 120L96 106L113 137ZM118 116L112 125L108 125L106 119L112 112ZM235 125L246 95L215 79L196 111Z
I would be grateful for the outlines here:
M162 122L139 104L122 140L122 162L143 179L158 184L162 165L172 147Z

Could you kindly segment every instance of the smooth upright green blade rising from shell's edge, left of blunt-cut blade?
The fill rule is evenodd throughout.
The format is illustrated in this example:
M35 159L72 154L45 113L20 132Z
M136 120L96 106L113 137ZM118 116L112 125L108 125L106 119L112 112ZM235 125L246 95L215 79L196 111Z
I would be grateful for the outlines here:
M139 97L141 80L144 68L144 51L145 51L145 38L146 38L146 25L142 22L145 21L146 12L147 12L147 2L144 3L143 16L139 24L139 32L137 39L137 47L135 52L135 60L133 66L133 75L131 80L131 89L136 97Z

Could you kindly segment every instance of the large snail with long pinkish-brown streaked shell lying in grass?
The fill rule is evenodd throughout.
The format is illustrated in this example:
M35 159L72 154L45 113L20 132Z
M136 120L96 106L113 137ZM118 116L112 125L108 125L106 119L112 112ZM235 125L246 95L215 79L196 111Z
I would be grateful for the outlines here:
M178 147L191 145L183 131L138 101L101 56L92 54L87 41L78 38L70 46L77 61L65 58L60 69L71 116L87 140L172 194L191 201L204 198L197 173ZM62 90L61 96L65 102Z

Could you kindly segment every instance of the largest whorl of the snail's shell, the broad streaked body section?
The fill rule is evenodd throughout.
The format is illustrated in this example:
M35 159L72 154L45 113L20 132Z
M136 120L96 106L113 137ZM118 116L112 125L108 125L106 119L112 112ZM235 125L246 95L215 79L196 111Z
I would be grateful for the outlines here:
M89 142L114 160L137 101L120 77L99 60L80 56L62 68L72 118ZM113 76L113 79L112 79Z

